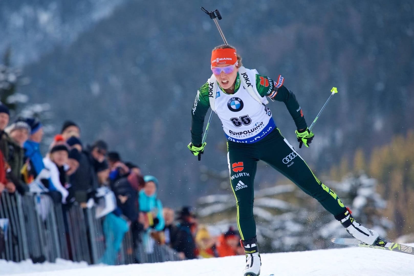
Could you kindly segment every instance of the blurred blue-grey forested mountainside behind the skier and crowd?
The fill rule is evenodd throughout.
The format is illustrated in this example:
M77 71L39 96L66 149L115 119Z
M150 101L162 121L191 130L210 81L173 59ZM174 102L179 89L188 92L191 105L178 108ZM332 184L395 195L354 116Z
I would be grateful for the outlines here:
M332 86L338 88L313 129L311 147L300 154L349 205L357 197L350 183L371 179L374 202L383 202L378 208L386 205L378 216L390 221L383 223L389 237L413 233L412 1L1 1L1 100L14 105L16 116L39 115L49 138L64 120L77 122L84 142L104 139L111 151L159 178L164 205L198 204L206 221L217 222L222 218L205 208L232 193L225 137L215 115L202 160L187 149L190 110L211 74L211 50L222 44L200 6L219 9L221 29L243 65L271 78L285 77L308 125ZM297 147L285 106L269 106L282 134ZM289 185L260 163L256 188L276 184ZM284 196L270 192L267 197L281 197L315 216L323 211L312 201L298 204L300 195L289 189ZM279 208L273 201L262 210L269 218L279 216ZM361 207L361 214L374 211Z

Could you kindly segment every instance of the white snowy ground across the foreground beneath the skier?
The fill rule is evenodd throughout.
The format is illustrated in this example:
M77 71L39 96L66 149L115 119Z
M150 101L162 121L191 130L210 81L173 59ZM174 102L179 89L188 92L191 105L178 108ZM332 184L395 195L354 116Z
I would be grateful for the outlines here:
M13 276L241 276L244 262L244 256L124 266L87 266L86 263L72 263L64 260L59 260L56 264L31 264L31 262L16 264L0 260L0 274ZM269 274L275 276L414 275L414 255L358 247L262 254L260 276L269 276Z

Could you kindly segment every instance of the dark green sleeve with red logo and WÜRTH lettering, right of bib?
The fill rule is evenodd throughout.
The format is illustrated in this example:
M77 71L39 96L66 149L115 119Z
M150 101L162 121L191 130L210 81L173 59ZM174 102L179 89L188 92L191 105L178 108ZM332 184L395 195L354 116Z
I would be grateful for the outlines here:
M279 79L280 77L281 76L279 76ZM280 84L282 83L283 81L280 82ZM292 91L288 90L284 85L276 88L275 82L272 79L259 74L256 74L256 88L258 89L260 96L264 97L272 95L274 100L284 102L298 130L307 127L301 106L299 106L298 101L296 101L296 96Z

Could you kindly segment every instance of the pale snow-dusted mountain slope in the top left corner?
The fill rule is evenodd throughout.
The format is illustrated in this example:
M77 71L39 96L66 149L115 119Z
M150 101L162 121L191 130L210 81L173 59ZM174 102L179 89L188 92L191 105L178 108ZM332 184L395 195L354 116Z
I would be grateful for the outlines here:
M0 54L12 48L14 65L65 47L126 0L0 1Z

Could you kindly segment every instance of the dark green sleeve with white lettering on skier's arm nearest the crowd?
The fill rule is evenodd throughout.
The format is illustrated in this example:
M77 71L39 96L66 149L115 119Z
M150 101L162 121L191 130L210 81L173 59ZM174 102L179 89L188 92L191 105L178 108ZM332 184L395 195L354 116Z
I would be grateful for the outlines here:
M191 143L200 145L204 127L204 118L210 107L208 98L208 82L197 90L197 96L191 109Z

